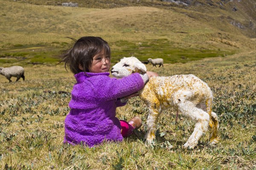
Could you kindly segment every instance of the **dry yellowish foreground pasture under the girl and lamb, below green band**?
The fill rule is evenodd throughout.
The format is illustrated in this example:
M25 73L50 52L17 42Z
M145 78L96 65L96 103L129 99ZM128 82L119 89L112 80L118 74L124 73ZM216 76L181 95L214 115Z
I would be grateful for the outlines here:
M117 109L119 119L139 115L144 123L123 142L93 148L62 144L73 75L63 65L32 65L26 68L25 81L9 83L1 76L0 166L7 170L255 169L254 57L255 52L247 52L166 64L164 68L147 65L149 71L161 76L195 74L212 88L221 142L209 147L207 133L194 150L182 147L194 122L179 115L175 124L176 112L172 109L164 111L158 120L155 144L146 146L143 136L148 110L138 97Z

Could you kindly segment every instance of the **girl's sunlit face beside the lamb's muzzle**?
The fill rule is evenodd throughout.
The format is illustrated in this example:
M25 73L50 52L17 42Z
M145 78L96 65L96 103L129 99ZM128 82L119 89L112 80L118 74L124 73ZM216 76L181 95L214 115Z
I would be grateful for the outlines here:
M105 56L104 50L93 57L92 65L89 68L91 73L103 73L108 72L110 68L110 57Z

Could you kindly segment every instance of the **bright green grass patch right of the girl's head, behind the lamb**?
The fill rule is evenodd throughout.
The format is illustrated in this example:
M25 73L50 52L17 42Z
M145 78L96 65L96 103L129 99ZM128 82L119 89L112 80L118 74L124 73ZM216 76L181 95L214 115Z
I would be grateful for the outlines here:
M148 58L163 58L165 63L186 63L207 57L224 57L235 51L220 51L214 49L175 48L167 39L147 40L140 44L133 42L116 42L115 46L122 47L112 52L112 62L118 62L122 57L134 55L141 61Z

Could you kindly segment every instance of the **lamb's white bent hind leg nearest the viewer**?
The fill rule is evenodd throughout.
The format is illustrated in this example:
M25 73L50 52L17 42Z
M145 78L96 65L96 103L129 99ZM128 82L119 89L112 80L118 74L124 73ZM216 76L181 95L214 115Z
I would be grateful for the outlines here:
M189 116L191 119L195 120L195 129L192 135L189 137L188 141L183 145L184 147L194 148L201 136L207 132L209 125L209 114L205 111L196 107L195 104L189 102L186 99L179 99L180 103L178 105L179 111L185 115Z

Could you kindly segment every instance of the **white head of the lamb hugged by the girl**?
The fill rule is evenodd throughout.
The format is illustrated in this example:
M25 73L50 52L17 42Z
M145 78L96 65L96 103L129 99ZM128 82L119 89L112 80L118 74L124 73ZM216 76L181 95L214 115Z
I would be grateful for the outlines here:
M146 66L135 57L123 57L111 69L114 77L125 77L132 73L144 74L147 71Z

